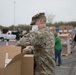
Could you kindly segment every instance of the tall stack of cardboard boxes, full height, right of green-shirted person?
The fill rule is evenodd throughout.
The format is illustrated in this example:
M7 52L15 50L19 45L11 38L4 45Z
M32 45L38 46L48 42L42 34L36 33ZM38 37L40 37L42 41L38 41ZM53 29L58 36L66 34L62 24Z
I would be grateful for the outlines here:
M59 36L61 38L62 41L62 46L63 46L63 50L62 50L62 55L68 55L71 53L72 51L72 47L71 47L71 43L72 43L72 26L59 26Z

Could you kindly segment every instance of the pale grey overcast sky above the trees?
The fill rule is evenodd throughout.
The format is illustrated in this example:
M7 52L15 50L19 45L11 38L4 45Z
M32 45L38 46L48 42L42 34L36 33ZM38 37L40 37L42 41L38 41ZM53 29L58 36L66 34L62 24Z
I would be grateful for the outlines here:
M55 15L54 22L76 21L76 0L15 0L15 25L30 24L39 12ZM0 0L0 25L14 24L14 0Z

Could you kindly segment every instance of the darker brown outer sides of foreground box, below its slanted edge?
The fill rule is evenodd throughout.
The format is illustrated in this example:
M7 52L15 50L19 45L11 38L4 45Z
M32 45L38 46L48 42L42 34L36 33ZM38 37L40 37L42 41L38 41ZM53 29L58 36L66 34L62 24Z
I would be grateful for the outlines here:
M19 55L19 57L21 57L21 55ZM15 58L17 58L17 56ZM34 75L33 55L24 55L22 59L16 59L17 61L13 61L14 59L6 66L5 75Z

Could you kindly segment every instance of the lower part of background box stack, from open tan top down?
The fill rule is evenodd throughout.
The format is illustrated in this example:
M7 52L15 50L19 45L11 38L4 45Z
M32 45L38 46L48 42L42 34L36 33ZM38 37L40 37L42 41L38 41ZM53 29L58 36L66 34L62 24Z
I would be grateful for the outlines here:
M70 34L60 34L62 43L62 55L68 55L71 53L71 40L70 40Z

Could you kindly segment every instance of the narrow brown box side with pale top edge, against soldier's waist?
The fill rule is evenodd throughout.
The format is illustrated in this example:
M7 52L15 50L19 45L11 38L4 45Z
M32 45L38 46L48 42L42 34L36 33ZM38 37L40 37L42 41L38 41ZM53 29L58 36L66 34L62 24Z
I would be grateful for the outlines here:
M21 65L21 75L34 75L34 55L24 55Z

